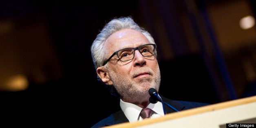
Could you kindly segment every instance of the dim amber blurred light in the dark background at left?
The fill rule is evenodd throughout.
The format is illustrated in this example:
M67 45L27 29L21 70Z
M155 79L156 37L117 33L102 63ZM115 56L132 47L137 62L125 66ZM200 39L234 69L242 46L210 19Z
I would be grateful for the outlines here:
M24 75L13 75L7 79L6 85L9 91L21 91L28 88L29 82Z

